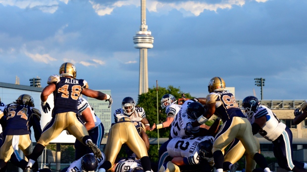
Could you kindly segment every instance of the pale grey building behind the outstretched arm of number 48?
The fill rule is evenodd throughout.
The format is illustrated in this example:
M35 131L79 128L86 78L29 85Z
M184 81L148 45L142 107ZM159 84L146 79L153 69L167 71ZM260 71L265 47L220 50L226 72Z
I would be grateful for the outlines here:
M102 93L111 95L111 90L96 90ZM111 128L111 120L112 120L112 111L111 107L108 108L109 102L97 100L94 98L87 98L87 101L91 104L91 106L95 110L95 114L100 118L104 127L104 137L109 133Z

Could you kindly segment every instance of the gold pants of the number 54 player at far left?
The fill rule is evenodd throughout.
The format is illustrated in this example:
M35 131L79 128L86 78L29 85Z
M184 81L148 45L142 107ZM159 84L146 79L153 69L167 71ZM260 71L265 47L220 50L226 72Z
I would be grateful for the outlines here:
M13 149L13 135L7 135L4 138L3 144L0 148L0 159L6 163L14 152ZM32 152L32 141L30 135L19 135L18 147L25 155L29 155Z

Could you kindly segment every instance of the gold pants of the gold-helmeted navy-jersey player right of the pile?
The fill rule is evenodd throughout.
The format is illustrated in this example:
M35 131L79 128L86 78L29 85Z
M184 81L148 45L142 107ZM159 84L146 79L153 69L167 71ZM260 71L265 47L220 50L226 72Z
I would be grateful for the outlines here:
M227 120L214 138L212 152L222 152L235 138L238 138L249 156L254 159L257 151L257 143L252 133L252 125L247 118L233 117Z

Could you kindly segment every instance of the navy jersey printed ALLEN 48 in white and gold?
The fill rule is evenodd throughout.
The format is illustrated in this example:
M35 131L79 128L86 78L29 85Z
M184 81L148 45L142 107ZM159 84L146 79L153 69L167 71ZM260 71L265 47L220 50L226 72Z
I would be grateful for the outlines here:
M54 83L56 85L55 91L53 92L53 114L63 112L78 113L78 98L83 88L88 87L85 80L52 75L49 77L47 83Z

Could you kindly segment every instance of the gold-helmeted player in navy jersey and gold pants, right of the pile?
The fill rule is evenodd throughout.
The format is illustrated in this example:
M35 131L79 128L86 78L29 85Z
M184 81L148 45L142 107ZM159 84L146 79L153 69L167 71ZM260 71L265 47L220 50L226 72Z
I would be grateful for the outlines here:
M195 122L187 126L188 131L193 127L204 124L213 114L223 121L222 128L215 136L213 144L213 158L216 172L223 172L224 156L222 151L234 138L238 138L250 157L264 170L270 172L265 158L257 152L257 144L253 138L252 126L242 113L232 93L225 90L225 82L221 77L213 77L208 84L209 95L206 97L207 109ZM233 169L234 171L236 169Z

